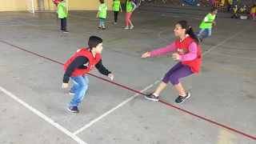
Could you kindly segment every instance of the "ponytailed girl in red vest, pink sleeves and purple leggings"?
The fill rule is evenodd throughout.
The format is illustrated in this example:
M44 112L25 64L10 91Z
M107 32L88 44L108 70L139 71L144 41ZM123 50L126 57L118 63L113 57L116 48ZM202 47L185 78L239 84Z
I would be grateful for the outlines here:
M199 73L202 54L198 46L198 38L195 36L188 22L178 22L175 26L174 33L175 36L179 37L176 42L161 49L142 54L142 58L147 58L177 50L178 53L174 53L173 58L174 60L180 61L165 74L158 89L154 93L146 94L146 99L158 101L158 95L165 89L168 82L171 82L178 91L178 98L175 100L176 103L182 103L186 98L190 97L190 93L186 93L178 79L187 77L190 74Z

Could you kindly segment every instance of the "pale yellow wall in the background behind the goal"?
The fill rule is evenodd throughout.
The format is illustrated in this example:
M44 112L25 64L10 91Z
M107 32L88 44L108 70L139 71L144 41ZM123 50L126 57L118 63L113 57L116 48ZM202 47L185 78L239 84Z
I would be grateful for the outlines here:
M30 0L0 0L0 11L28 10L28 1ZM40 7L38 2L40 0L34 0L35 10ZM41 9L54 10L52 0L43 0L43 2L44 6L41 6ZM105 0L109 10L111 10L112 2L113 0ZM69 10L98 10L99 5L100 2L98 0L68 0Z

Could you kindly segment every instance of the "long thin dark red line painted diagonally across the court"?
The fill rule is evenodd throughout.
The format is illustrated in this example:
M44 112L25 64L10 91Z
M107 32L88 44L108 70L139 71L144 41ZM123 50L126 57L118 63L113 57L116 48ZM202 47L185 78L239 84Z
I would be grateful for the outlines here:
M10 44L10 43L8 43L8 42L3 42L2 40L0 40L0 42L5 43L5 44L10 45L10 46L14 46L14 45L12 45L12 44ZM18 49L20 49L20 50L24 50L24 51L26 51L26 52L28 52L28 53L30 53L30 54L37 55L38 57L45 58L45 59L47 59L47 60L49 60L49 61L51 61L51 62L56 62L56 63L58 63L58 64L63 65L62 62L57 62L57 61L55 61L55 60L53 60L53 59L46 58L46 57L44 57L44 56L42 56L42 55L39 55L39 54L35 54L35 53L33 53L33 52L29 51L29 50L22 49L21 47L18 47L18 46L14 46L14 47L16 47L16 48L18 48ZM89 73L89 74L90 74L90 73ZM98 77L98 76L96 76L96 75L94 75L94 74L90 74L90 75L91 75L91 76L94 76L95 78L102 79L103 81L110 82L110 83L112 83L112 84L114 84L114 85L116 85L116 86L120 86L120 87L125 88L125 89L127 89L127 90L134 91L135 93L145 95L145 94L139 92L138 90L134 90L134 89L131 89L131 88L129 88L129 87L120 85L120 84L118 84L118 83L116 83L116 82L112 82L112 81L107 80L107 79L105 79L105 78ZM256 137L254 137L254 136L252 136L252 135L245 134L245 133L243 133L243 132L241 132L241 131L238 131L238 130L235 130L235 129L229 127L229 126L222 125L222 124L220 124L220 123L218 123L218 122L214 122L214 121L212 121L212 120L210 120L210 119L208 119L208 118L204 118L204 117L202 117L202 116L200 116L200 115L198 115L198 114L191 113L190 111L187 111L187 110L184 110L184 109L182 109L182 108L179 108L178 106L171 105L171 104L168 103L168 102L164 102L164 101L162 101L162 100L159 100L158 102L161 102L161 103L163 103L163 104L165 104L165 105L167 105L167 106L173 107L173 108L175 108L175 109L177 109L177 110L181 110L181 111L185 112L186 114L193 115L194 117L201 118L202 120L205 120L205 121L207 121L207 122L213 123L213 124L215 124L215 125L217 125L217 126L221 126L221 127L223 127L223 128L226 128L227 130L234 131L235 133L242 134L243 136L246 136L246 137L248 137L248 138L252 138L252 139L256 140Z

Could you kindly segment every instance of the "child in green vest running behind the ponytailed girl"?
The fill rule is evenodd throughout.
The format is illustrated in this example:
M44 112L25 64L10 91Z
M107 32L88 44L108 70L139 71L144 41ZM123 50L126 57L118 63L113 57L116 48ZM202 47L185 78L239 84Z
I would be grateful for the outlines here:
M207 14L206 17L202 20L200 26L199 26L199 32L197 34L197 37L199 39L199 42L202 42L202 39L208 38L211 35L211 28L212 25L216 26L216 22L214 21L215 16L217 14L218 10L216 7L211 9L211 13ZM202 35L201 38L199 36L206 30L206 34Z

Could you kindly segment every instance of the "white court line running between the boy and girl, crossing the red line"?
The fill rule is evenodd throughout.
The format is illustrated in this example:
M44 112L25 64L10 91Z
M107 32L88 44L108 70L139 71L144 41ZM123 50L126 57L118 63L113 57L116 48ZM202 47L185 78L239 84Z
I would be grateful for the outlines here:
M158 81L160 82L160 81ZM154 83L154 85L157 84L157 82ZM150 87L154 86L154 85L150 85L147 86L144 90L140 91L141 93L143 93L145 90L150 89ZM135 97L137 97L139 94L134 94L134 96L126 99L126 101L120 103L118 106L115 106L113 109L107 111L106 113L102 114L101 116L99 116L98 118L95 118L93 121L89 122L88 124L86 124L85 126L82 126L79 130L75 131L73 134L79 134L82 132L82 130L86 130L89 126L93 125L95 122L98 122L99 120L101 120L102 118L106 117L106 115L112 113L114 110L117 110L119 107L125 105L127 102L130 102L130 100L134 99Z

